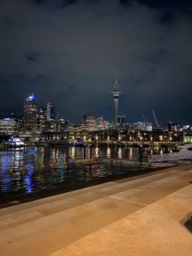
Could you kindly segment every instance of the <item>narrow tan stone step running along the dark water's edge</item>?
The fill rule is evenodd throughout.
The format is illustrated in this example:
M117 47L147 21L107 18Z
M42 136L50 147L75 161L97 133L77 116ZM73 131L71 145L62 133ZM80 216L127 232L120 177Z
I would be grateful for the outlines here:
M151 177L147 177L149 180L161 179L163 174L155 173L151 174ZM143 177L144 176L144 177ZM121 179L116 182L103 183L89 188L83 188L73 192L63 193L57 196L46 197L37 201L31 201L28 203L11 206L0 210L1 220L6 218L13 218L17 216L17 212L20 215L28 214L31 211L41 210L43 214L53 214L59 210L68 210L70 207L75 207L81 203L98 200L105 196L111 196L118 192L124 192L131 188L145 183L145 175L137 178ZM75 201L72 199L75 199ZM11 214L10 214L11 212Z

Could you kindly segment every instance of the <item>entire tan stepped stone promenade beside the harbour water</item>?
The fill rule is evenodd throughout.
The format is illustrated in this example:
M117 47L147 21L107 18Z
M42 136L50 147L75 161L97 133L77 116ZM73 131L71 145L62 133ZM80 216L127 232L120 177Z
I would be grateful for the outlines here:
M192 255L192 164L0 210L11 255Z

